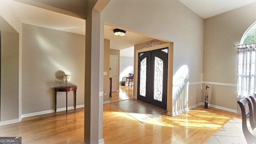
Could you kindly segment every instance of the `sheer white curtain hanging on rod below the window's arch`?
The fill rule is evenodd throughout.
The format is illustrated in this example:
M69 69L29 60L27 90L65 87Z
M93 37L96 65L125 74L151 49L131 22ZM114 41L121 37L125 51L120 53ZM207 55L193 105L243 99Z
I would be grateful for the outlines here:
M238 46L237 101L256 93L255 43ZM241 114L237 105L237 113Z

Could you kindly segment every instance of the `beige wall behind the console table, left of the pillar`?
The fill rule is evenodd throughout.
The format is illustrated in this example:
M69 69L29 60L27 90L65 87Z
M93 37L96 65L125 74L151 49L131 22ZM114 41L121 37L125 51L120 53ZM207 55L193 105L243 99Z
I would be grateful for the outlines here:
M85 36L23 24L22 114L53 110L54 87L65 86L60 78L71 76L78 86L76 105L84 104ZM74 105L68 92L68 106ZM57 108L66 107L66 93L57 93Z

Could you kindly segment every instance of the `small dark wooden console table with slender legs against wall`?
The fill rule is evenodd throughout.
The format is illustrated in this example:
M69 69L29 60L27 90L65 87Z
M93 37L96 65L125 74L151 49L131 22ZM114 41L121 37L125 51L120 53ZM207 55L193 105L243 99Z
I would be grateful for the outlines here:
M76 109L76 90L77 86L60 86L55 87L55 112L57 110L57 92L66 92L66 113L68 113L68 92L74 91L75 109Z

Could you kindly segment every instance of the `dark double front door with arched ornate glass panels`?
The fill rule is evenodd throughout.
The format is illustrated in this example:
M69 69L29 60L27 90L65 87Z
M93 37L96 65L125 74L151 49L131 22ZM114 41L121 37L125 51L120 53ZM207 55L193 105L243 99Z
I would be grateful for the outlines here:
M168 48L138 54L138 100L166 110Z

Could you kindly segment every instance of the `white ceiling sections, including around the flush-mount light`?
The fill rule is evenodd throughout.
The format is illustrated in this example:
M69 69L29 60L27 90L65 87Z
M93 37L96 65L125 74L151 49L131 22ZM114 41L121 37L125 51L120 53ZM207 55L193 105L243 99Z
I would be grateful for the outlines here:
M18 1L29 1L29 0L7 0L8 4L12 7L18 18L20 18L22 23L32 24L35 26L42 26L46 28L52 28L56 30L62 30L66 32L72 32L77 34L85 35L85 20L82 19L83 16L80 11L67 14L67 7L69 6L66 3L66 6L59 6L57 9L66 8L64 12L54 12L53 7L58 6L60 0L55 0L54 4L51 5L51 8L46 8L45 4L49 5L52 0L33 0L33 5L24 4ZM62 0L61 0L62 1ZM256 0L179 0L198 14L202 18L209 18L211 16L215 16L221 14L223 12L227 12L251 3L256 2ZM31 0L30 0L31 2ZM44 2L44 4L39 4L38 2ZM66 0L67 2L67 0ZM69 1L70 2L70 1ZM73 2L73 0L72 0ZM76 0L75 2L81 2L81 0ZM35 4L37 4L35 6ZM62 3L63 4L63 3ZM82 3L84 4L84 3ZM54 8L55 8L54 7ZM72 5L74 7L74 5ZM46 8L46 9L45 9ZM79 6L79 9L82 9L82 6ZM52 11L53 10L53 11ZM76 15L76 16L74 16ZM79 18L80 16L80 18ZM116 28L116 27L115 27ZM110 48L116 50L122 50L124 48L132 47L136 44L140 44L142 42L147 42L152 40L153 38L149 38L140 34L136 34L133 32L126 32L126 36L114 36L113 34L114 27L105 25L104 26L104 38L110 40Z

